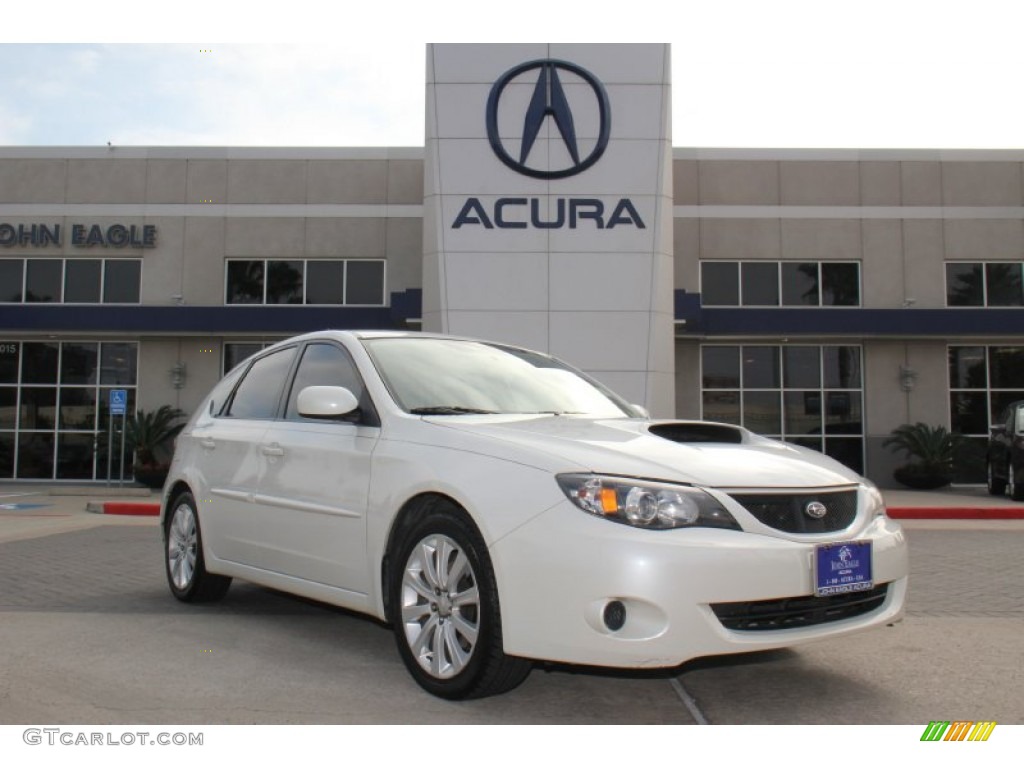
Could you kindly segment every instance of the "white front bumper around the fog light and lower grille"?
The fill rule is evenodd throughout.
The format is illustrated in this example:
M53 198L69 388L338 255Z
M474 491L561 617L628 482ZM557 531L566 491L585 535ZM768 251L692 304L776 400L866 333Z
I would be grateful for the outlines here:
M853 540L871 542L873 582L888 585L878 607L813 626L729 630L712 605L813 595L820 537L809 542L711 528L641 530L600 520L566 501L490 549L505 652L600 667L675 667L899 621L908 570L902 529L888 517L858 517L828 538ZM603 617L613 600L626 608L616 631Z

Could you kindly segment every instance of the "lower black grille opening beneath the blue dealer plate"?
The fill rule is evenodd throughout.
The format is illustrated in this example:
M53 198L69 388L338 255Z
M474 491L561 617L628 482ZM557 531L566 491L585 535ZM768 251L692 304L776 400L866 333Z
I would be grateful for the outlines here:
M729 630L790 630L870 613L885 602L888 590L888 584L881 584L863 592L824 597L783 597L745 603L715 603L711 608L722 626Z

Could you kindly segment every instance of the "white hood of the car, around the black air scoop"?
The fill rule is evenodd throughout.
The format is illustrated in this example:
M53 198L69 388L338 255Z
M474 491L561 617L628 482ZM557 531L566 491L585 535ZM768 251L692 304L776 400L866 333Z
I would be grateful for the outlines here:
M709 422L573 416L442 417L429 421L547 455L556 459L555 465L561 460L602 474L733 488L821 487L860 479L818 452ZM575 467L566 466L561 471L573 470Z

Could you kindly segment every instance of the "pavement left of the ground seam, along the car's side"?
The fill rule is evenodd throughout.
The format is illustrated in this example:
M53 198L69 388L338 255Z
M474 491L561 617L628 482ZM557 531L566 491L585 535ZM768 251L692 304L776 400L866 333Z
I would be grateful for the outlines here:
M535 671L443 701L371 620L243 583L178 603L152 525L0 544L0 723L693 722L664 676Z

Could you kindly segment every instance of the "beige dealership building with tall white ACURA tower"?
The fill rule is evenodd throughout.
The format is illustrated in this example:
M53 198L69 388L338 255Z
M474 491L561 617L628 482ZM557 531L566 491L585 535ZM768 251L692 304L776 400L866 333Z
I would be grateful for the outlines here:
M114 390L189 411L268 343L384 328L883 485L894 427L944 425L982 480L1024 399L1024 153L673 147L669 65L429 46L421 147L0 147L0 479L104 479Z

